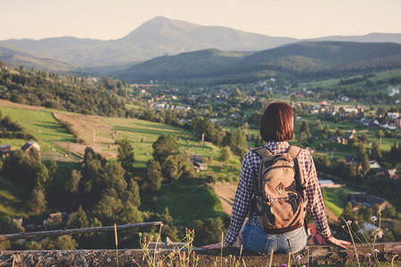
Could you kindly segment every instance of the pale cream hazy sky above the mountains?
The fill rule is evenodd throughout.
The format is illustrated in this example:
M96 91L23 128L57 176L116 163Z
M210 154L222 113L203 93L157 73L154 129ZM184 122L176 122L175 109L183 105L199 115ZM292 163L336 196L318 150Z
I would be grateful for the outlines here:
M118 39L156 16L266 36L401 33L401 0L0 0L0 40Z

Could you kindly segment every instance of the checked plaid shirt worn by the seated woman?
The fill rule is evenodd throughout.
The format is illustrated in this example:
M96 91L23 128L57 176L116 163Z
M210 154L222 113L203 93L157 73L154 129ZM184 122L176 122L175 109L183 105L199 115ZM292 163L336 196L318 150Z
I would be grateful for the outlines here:
M274 154L284 153L290 144L288 142L267 142L266 148ZM315 163L312 155L307 150L301 150L299 153L299 163L307 182L307 207L311 212L317 230L322 234L323 238L331 236L329 224L324 210L322 192L315 169ZM258 191L258 170L260 165L259 156L249 151L242 160L240 182L235 193L233 202L233 212L231 215L230 228L225 236L225 240L229 243L235 242L241 231L245 217L250 214L248 223L259 225L258 215L254 207L250 205L252 194Z

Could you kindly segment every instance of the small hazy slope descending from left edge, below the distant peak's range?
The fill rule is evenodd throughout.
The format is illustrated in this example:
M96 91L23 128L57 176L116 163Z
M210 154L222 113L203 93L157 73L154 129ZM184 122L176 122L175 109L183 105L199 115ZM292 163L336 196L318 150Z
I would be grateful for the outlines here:
M7 62L13 66L24 66L28 69L42 69L46 71L71 71L78 69L78 66L62 61L54 61L39 58L32 53L15 49L6 44L0 44L0 61Z

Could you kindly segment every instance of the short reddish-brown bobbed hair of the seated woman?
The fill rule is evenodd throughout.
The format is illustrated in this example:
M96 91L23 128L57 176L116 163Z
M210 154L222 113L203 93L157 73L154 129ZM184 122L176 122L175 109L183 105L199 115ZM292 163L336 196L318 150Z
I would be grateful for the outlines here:
M266 142L290 141L294 136L294 111L286 102L271 103L260 119L260 135Z

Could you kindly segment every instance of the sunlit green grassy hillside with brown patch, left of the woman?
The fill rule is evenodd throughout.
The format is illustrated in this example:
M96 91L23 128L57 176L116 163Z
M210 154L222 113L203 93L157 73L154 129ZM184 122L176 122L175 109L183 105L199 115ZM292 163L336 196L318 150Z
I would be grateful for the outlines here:
M166 182L163 190L155 193L143 192L141 211L146 213L157 212L163 214L166 206L174 217L175 223L184 223L185 227L193 223L193 220L215 218L225 216L213 190L205 186L206 178L219 173L219 179L233 179L240 172L240 160L232 157L226 164L218 160L221 157L220 150L213 144L202 145L195 140L190 132L183 131L171 125L152 123L134 118L110 118L88 115L79 115L70 112L54 112L52 109L32 109L31 106L15 104L9 101L0 101L0 112L3 116L9 116L13 121L23 125L29 134L35 134L37 143L41 147L41 158L45 162L57 161L58 171L54 175L52 190L46 195L48 208L44 214L55 211L72 212L78 206L69 201L60 200L66 198L66 183L71 179L71 170L82 165L86 147L91 147L104 158L115 162L119 145L116 141L129 140L135 153L135 179L141 181L146 170L146 163L152 158L152 143L160 134L170 134L176 137L180 150L189 154L198 154L203 158L209 158L209 171L195 174L195 179L180 179L176 182ZM74 133L86 144L74 142L75 136L68 133L62 127L61 121L67 121L72 125ZM9 143L12 150L20 150L25 140L1 138L0 143ZM230 172L226 172L229 168ZM196 179L200 178L200 179ZM29 210L29 187L17 189L10 179L0 175L0 216L7 214L20 216L24 220L35 221L34 214ZM195 200L193 198L196 198ZM77 197L79 198L79 197ZM176 199L180 199L176 205ZM190 201L192 199L192 201ZM74 201L72 201L74 202ZM191 203L191 204L190 204ZM197 212L191 212L192 206L198 206Z

